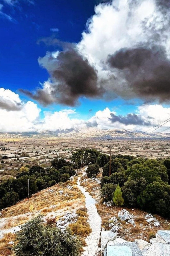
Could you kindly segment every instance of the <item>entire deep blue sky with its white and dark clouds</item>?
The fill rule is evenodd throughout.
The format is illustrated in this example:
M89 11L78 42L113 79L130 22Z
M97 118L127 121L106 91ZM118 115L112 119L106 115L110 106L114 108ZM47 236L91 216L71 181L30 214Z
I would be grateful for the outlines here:
M0 0L0 24L0 132L170 118L169 0Z

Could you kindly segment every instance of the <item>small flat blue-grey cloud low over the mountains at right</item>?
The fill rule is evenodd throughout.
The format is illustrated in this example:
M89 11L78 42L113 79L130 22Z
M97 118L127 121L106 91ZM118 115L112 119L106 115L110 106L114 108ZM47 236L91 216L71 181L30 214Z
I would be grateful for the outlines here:
M116 116L113 113L111 113L110 116L111 118L109 119L111 120L112 123L119 122L125 125L130 125L130 124L146 125L146 126L151 125L149 121L145 122L141 116L138 116L136 114L128 114L127 116L120 116L120 115Z

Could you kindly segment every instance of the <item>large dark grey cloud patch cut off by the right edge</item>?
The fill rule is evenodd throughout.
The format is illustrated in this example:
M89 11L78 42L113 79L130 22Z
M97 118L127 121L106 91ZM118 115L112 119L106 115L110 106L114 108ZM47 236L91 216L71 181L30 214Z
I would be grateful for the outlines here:
M123 71L129 89L136 96L160 102L170 100L170 61L163 47L124 48L109 55L107 62L117 71Z

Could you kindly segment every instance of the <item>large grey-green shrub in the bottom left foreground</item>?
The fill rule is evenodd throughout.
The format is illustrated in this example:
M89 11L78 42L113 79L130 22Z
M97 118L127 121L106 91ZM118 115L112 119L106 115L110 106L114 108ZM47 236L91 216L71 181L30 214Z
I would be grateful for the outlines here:
M38 216L21 227L16 236L14 251L17 256L80 256L81 242L70 231L43 225Z

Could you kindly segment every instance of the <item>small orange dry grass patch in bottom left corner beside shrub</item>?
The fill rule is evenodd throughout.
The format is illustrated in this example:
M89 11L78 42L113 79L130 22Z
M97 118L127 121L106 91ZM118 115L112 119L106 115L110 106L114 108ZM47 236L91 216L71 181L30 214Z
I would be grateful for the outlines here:
M8 243L10 241L15 241L15 236L15 234L7 233L0 240L0 256L14 255L14 253L11 252L12 245L9 245Z

